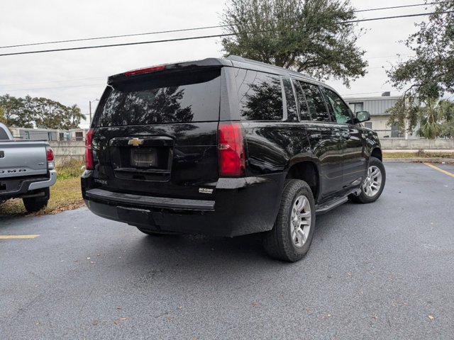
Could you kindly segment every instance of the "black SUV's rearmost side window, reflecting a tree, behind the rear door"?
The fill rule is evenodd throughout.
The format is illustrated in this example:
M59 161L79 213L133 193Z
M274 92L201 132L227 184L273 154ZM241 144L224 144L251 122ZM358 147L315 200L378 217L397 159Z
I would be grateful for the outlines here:
M240 118L243 120L282 120L281 79L272 74L239 69L236 88Z

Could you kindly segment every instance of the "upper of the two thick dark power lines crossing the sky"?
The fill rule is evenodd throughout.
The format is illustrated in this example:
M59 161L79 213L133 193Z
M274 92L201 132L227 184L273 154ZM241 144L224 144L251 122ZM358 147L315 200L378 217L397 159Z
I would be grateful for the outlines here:
M379 8L367 8L367 9L360 9L360 10L353 11L353 12L359 13L359 12L368 12L368 11L382 11L382 10L385 10L385 9L395 9L395 8L405 8L405 7L415 7L415 6L425 6L425 5L429 6L429 5L433 5L433 4L443 4L445 2L447 2L447 1L436 1L436 2L431 2L431 3L428 3L428 4L411 4L411 5L403 5L403 6L389 6L389 7L379 7ZM191 31L191 30L207 30L207 29L211 29L211 28L223 28L223 27L228 27L228 25L202 26L202 27L194 27L194 28L181 28L181 29L176 29L176 30L157 30L157 31L145 32L145 33L106 35L106 36L103 36L103 37L91 37L91 38L79 38L79 39L67 39L67 40L54 40L54 41L46 41L46 42L31 42L31 43L28 43L28 44L0 46L0 48L48 45L48 44L59 44L59 43L63 43L63 42L79 42L79 41L112 39L112 38L126 38L126 37L140 36L140 35L155 35L155 34L162 34L162 33L188 32L188 31Z

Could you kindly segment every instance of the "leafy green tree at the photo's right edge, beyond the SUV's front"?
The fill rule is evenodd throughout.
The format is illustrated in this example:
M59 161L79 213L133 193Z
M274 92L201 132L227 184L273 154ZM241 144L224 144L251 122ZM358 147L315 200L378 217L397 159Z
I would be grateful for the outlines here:
M404 90L389 110L389 125L397 123L404 131L407 120L406 128L412 132L420 124L418 134L424 137L446 134L449 128L443 125L452 125L435 115L436 108L441 110L438 106L448 105L438 103L438 98L454 92L454 13L446 11L454 11L454 1L440 2L428 21L416 25L417 32L404 42L414 56L387 72L391 84Z

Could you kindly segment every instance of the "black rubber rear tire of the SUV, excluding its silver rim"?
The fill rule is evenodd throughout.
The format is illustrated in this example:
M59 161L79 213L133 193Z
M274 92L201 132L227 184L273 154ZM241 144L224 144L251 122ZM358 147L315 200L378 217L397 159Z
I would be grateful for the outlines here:
M301 246L294 244L292 240L291 219L292 208L297 198L305 196L311 208L309 233L306 242ZM284 184L284 191L280 202L274 227L269 232L262 233L262 244L265 251L274 259L296 262L300 260L311 246L315 229L315 202L311 188L305 181L299 179L287 179Z

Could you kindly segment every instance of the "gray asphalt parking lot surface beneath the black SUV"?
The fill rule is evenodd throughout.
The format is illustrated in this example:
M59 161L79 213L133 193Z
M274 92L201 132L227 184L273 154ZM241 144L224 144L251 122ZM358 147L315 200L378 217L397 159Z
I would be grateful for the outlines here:
M0 339L448 339L454 165L385 164L299 263L258 238L147 237L86 208L0 220Z

